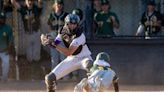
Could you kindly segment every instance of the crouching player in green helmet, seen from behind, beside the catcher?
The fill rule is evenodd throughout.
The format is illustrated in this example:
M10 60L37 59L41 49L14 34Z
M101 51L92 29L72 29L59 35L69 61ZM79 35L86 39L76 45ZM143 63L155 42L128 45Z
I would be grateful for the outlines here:
M103 90L114 86L115 92L119 92L118 77L109 64L110 57L101 52L96 56L88 78L84 78L74 88L74 92L104 92Z

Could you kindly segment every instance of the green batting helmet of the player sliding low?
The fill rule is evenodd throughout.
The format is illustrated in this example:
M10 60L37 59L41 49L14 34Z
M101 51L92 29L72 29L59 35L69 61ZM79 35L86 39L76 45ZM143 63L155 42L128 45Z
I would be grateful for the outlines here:
M97 56L96 56L96 60L104 60L104 61L110 61L110 56L108 53L106 52L100 52Z

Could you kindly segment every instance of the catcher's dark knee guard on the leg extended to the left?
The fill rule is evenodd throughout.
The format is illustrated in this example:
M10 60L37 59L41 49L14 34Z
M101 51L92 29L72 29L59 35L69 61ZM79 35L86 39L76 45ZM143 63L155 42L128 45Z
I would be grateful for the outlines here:
M55 82L56 82L56 76L54 73L50 73L45 76L45 83L47 85L53 85Z

